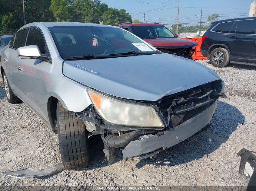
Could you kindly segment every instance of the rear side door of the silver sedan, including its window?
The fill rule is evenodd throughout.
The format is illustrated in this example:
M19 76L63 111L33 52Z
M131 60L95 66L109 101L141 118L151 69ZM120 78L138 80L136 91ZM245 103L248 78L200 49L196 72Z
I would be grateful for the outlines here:
M8 48L2 53L2 57L4 61L2 62L5 74L7 76L8 82L12 90L22 97L22 92L20 89L20 81L18 77L18 53L17 49L25 45L26 37L27 37L27 29L20 30L16 35L13 36L10 45Z

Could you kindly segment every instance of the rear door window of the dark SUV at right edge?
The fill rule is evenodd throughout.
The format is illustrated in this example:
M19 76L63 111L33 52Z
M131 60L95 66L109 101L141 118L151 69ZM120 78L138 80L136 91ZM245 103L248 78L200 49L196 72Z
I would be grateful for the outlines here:
M236 34L255 34L256 19L238 21Z

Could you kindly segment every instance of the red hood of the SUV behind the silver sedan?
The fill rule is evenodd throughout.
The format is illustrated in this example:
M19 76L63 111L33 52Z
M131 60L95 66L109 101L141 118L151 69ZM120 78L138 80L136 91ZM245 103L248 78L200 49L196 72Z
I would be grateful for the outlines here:
M180 38L156 38L144 40L156 48L188 48L198 44L192 40L185 40Z

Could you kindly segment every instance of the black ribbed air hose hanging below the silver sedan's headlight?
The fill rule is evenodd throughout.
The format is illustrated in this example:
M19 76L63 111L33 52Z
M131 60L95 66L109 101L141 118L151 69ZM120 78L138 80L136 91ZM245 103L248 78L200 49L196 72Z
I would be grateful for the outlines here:
M155 131L148 131L148 130L135 130L128 133L124 133L120 136L111 133L105 137L103 140L104 144L109 147L125 147L129 144L129 142L133 141L136 137L142 134L155 132Z

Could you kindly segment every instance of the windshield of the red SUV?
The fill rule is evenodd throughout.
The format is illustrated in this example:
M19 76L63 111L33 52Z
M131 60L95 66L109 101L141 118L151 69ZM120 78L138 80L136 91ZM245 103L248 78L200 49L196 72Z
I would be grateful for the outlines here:
M165 26L132 26L135 35L141 39L175 38L174 34Z

